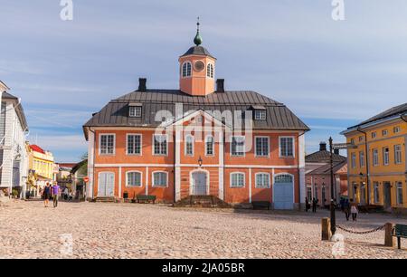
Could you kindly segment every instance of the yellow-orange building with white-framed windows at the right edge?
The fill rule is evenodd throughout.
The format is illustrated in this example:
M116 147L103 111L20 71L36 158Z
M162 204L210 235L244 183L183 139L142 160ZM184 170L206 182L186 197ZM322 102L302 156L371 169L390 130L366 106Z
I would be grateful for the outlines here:
M347 150L350 198L360 205L407 211L407 103L342 134L354 145Z

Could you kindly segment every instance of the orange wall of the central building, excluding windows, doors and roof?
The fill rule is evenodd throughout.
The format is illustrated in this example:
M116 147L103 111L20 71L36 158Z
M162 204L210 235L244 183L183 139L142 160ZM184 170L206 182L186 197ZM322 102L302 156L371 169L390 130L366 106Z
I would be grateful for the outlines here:
M128 135L137 134L141 136L141 153L139 155L128 155ZM293 177L294 199L293 206L299 200L299 170L298 170L298 132L276 132L276 131L253 131L247 136L248 151L242 157L233 157L231 153L231 141L214 141L213 155L206 155L205 141L200 139L198 131L193 132L194 155L185 154L185 132L182 139L175 142L175 135L168 134L167 154L158 156L154 154L153 136L154 129L96 129L94 134L94 169L93 169L93 197L99 196L99 174L110 172L114 175L114 196L123 198L127 193L129 198L137 195L153 195L161 202L175 202L176 179L179 179L179 198L185 198L193 194L192 173L204 172L208 178L208 195L218 196L224 201L232 204L251 203L252 201L273 202L274 177L288 174ZM190 134L188 132L188 134ZM214 138L219 138L214 132ZM114 153L110 155L100 153L100 136L114 135ZM230 136L233 134L231 133ZM204 136L203 136L204 137ZM226 135L225 135L226 137ZM256 137L268 138L269 156L256 157L254 144ZM294 141L294 155L291 158L283 158L279 155L279 138L292 137ZM171 138L171 139L170 139ZM252 140L252 142L250 142ZM175 162L176 147L179 148L179 165ZM223 149L223 150L222 150ZM222 153L221 153L222 152ZM222 158L221 158L222 156ZM199 166L198 159L202 165ZM223 162L222 162L223 160ZM176 167L179 167L177 175ZM166 172L168 182L166 187L155 187L153 185L154 172ZM128 172L141 173L141 186L127 186ZM244 175L244 185L232 187L232 173ZM256 176L267 174L270 177L269 187L258 187Z

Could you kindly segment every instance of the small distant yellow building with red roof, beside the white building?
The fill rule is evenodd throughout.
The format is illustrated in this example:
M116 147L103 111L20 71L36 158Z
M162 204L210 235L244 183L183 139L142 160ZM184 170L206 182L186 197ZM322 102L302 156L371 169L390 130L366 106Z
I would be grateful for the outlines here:
M37 145L27 143L28 152L28 183L34 195L38 196L41 187L52 183L54 176L54 159L52 153Z

